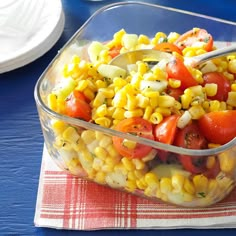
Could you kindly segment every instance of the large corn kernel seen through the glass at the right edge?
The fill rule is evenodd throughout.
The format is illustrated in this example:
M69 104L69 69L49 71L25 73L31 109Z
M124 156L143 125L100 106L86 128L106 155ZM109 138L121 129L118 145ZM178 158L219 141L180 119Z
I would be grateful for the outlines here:
M220 169L223 172L230 173L235 169L236 166L235 152L233 151L223 152L218 155L218 159L220 162Z

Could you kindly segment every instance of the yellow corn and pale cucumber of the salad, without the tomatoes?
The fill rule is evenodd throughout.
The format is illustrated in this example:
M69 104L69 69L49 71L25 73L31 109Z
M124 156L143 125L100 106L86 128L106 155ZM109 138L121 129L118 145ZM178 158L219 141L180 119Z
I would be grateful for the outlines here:
M196 28L197 29L197 28ZM187 66L196 85L183 89L178 99L168 89L181 88L181 81L169 78L166 61L149 67L146 61L139 61L128 67L128 72L109 65L111 51L124 53L141 48L153 48L161 42L175 42L180 35L157 32L153 38L147 35L116 32L108 43L92 42L88 46L89 60L74 55L61 71L61 81L47 97L51 110L66 113L69 95L76 91L85 97L91 109L91 119L97 125L115 129L123 120L142 118L153 126L166 117L178 115L178 129L200 119L212 111L234 110L236 107L236 55L232 54L211 60L200 68ZM182 54L173 55L184 61L206 53L203 45L185 47ZM217 94L214 83L204 85L203 75L220 72L230 83L225 101L209 99ZM216 176L191 173L178 160L170 163L160 161L158 150L152 149L142 158L129 158L116 149L113 138L99 131L75 127L61 120L53 119L54 146L65 163L66 169L79 177L93 180L102 185L142 194L182 206L207 206L221 200L234 186L236 150L206 157L206 168L219 163ZM123 140L128 149L136 143ZM208 143L208 148L220 144Z

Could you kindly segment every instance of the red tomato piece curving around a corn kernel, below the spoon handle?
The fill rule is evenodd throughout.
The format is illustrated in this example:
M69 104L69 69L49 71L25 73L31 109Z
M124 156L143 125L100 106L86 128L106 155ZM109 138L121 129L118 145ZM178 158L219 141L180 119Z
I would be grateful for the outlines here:
M217 93L209 97L212 100L226 101L228 92L231 91L231 85L228 79L219 72L208 72L203 75L204 85L209 83L217 84Z

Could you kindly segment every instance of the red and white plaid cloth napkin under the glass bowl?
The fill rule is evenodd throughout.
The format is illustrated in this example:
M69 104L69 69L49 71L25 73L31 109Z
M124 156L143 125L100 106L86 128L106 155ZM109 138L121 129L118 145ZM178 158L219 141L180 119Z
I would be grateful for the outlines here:
M236 228L236 189L209 208L176 208L68 175L44 149L35 225L78 230Z

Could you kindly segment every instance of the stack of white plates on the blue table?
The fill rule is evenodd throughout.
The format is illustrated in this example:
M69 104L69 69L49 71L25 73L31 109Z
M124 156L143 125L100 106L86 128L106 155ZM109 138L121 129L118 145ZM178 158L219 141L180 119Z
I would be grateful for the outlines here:
M45 54L61 36L64 23L60 0L0 1L0 73Z

